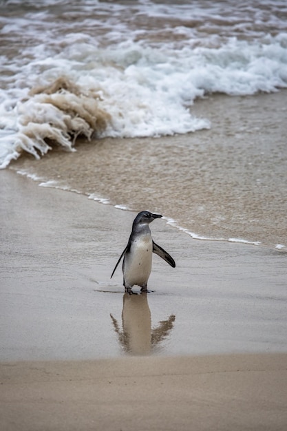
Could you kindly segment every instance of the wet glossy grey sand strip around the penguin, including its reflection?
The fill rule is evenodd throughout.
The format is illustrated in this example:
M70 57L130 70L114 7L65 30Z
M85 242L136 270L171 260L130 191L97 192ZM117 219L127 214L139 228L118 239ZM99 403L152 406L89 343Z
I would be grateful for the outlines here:
M155 255L153 293L126 297L110 277L134 213L0 174L1 361L287 352L286 253L156 220L176 269Z

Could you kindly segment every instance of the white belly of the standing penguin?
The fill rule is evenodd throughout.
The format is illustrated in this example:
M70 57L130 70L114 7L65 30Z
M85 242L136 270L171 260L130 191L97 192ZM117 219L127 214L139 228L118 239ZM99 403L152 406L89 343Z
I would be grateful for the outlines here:
M128 286L147 284L151 273L153 242L150 235L145 235L131 242L131 249L125 255L124 277Z

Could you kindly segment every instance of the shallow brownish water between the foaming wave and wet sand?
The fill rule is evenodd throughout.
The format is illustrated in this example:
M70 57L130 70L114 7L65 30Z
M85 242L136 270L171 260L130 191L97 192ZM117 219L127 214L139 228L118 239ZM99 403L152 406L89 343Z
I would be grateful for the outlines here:
M195 238L286 246L286 92L210 96L193 110L211 118L211 129L93 140L76 153L22 157L11 168L42 185L52 180L46 185L158 211Z

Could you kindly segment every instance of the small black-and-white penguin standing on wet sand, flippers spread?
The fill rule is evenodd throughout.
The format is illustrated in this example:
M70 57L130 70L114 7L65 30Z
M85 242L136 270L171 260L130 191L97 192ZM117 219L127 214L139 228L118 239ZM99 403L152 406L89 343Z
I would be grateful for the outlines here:
M114 271L111 273L112 277L120 260L123 258L123 285L125 286L125 292L130 295L134 293L131 288L135 285L140 286L141 293L149 292L147 290L147 281L151 273L152 253L162 257L173 268L176 267L176 262L174 262L171 255L151 238L149 223L161 217L162 215L153 214L149 211L140 211L138 213L133 222L129 242L120 255Z

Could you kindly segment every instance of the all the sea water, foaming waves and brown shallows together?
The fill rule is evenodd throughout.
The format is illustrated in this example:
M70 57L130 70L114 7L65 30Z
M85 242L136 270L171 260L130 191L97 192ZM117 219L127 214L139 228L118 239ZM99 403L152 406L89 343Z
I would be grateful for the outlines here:
M1 167L284 250L285 3L0 6Z

